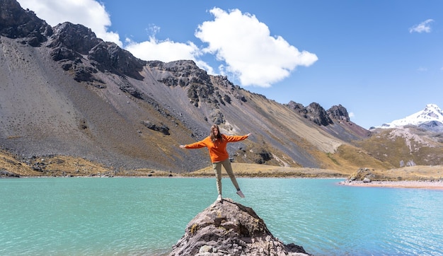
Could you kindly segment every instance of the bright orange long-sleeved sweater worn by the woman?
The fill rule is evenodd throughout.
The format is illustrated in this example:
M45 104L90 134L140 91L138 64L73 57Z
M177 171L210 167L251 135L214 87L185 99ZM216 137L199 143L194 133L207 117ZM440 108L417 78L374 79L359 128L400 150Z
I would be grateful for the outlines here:
M207 150L209 151L209 156L211 157L211 162L217 163L229 158L228 152L226 151L226 144L228 144L228 142L243 141L243 139L248 139L248 135L229 136L222 134L222 137L223 137L222 141L216 141L216 143L214 144L211 141L211 136L207 136L205 139L202 139L201 141L185 145L185 148L201 149L206 146Z

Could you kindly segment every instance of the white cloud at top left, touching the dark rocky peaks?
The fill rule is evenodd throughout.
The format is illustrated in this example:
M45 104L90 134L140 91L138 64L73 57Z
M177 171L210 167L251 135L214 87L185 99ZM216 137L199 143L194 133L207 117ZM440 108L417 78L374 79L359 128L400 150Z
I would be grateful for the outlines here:
M91 28L97 37L115 42L120 47L120 37L115 32L108 31L111 25L109 13L105 6L94 0L18 0L22 8L34 11L39 18L49 25L69 21Z

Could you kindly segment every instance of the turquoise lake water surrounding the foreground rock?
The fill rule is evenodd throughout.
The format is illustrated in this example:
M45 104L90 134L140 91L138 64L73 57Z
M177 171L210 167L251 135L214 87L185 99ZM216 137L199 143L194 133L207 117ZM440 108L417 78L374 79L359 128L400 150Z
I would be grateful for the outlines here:
M313 255L443 255L443 191L223 179L271 233ZM0 255L167 255L214 178L0 179Z

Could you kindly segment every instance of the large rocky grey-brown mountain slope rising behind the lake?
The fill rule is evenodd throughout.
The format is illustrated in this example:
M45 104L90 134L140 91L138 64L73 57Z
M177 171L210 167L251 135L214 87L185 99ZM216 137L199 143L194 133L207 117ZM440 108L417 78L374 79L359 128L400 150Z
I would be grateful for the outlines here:
M405 134L369 132L341 105L282 105L192 61L146 62L83 25L52 28L14 0L0 5L0 146L23 161L70 156L111 170L192 171L209 164L206 149L178 145L216 123L226 134L253 133L229 144L239 163L348 172L400 158L442 164L441 135L410 129L412 144L402 143Z

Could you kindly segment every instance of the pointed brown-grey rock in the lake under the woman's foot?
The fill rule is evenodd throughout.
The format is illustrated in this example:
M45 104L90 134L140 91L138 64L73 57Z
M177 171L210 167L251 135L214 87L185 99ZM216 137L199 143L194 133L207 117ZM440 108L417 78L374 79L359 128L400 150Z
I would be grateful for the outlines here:
M214 202L197 214L170 256L309 255L293 243L275 238L253 209L231 199Z

